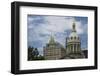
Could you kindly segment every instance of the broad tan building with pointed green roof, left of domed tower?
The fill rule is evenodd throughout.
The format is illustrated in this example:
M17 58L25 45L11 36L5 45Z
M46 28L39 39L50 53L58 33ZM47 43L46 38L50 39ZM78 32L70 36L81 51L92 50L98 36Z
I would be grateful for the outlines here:
M54 37L51 36L49 43L44 47L44 57L46 60L57 60L64 57L66 54L63 46L54 40Z

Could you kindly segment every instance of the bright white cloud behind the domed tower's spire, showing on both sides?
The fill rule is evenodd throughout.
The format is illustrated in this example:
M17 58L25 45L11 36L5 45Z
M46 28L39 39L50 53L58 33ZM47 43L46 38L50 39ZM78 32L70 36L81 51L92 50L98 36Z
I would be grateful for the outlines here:
M52 32L64 32L64 30L72 29L72 17L66 18L47 16L45 20L47 21L46 26L44 25L45 28ZM76 21L76 29L78 34L84 33L81 21Z

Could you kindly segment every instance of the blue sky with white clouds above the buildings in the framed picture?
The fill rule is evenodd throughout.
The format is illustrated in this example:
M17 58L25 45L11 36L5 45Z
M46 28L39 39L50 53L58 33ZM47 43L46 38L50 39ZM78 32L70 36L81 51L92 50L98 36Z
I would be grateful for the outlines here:
M66 37L72 30L73 20L76 23L76 31L81 40L81 48L87 49L88 17L79 16L53 16L53 15L28 15L28 47L38 48L39 54L43 55L43 47L53 35L55 41L65 47Z

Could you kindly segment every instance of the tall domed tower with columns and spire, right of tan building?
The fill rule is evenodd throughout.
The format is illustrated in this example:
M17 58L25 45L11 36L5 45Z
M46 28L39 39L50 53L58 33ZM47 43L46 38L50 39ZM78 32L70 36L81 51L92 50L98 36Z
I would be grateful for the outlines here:
M66 56L69 58L84 58L81 51L81 41L76 31L75 22L72 25L72 31L66 38Z

